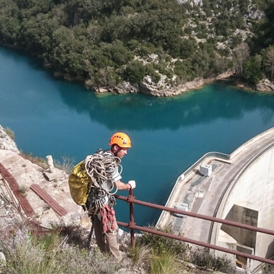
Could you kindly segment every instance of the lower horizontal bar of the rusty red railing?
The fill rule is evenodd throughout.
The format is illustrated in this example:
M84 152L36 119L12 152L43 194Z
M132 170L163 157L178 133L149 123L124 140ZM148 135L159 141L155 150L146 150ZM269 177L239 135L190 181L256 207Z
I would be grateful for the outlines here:
M192 239L185 238L185 237L182 237L182 236L177 236L177 235L169 234L169 233L166 233L166 232L160 232L160 231L157 231L155 229L150 229L150 228L147 228L147 227L140 227L138 225L129 225L129 223L122 223L120 221L117 221L117 224L121 225L123 227L128 227L129 229L138 229L142 232L148 232L148 233L151 233L151 234L157 234L157 235L160 235L160 236L173 238L175 240L181 240L181 241L184 241L184 242L189 242L191 244L199 245L201 247L208 247L210 249L223 251L225 253L231 253L231 254L234 254L234 255L249 258L251 260L257 260L257 261L260 261L260 262L265 262L267 264L274 264L274 260L270 260L270 259L250 255L250 254L243 253L243 252L236 251L236 250L232 250L232 249L226 249L225 247L219 247L217 245L211 245L211 244L208 244L207 242L199 242L198 240L192 240Z

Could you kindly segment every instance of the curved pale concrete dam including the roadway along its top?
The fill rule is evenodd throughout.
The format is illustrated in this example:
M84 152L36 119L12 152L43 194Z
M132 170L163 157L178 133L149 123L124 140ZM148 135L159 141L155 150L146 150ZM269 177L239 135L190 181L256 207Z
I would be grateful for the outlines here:
M274 230L274 127L230 155L203 155L177 178L165 206ZM255 256L274 256L274 237L269 234L165 211L156 226L169 226L181 236ZM252 273L261 264L232 254L227 258Z

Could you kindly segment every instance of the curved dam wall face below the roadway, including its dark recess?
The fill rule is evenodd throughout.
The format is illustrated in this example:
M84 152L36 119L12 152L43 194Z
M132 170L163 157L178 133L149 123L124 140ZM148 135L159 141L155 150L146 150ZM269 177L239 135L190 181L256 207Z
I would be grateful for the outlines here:
M274 146L264 149L251 160L227 190L218 216L221 219L238 221L265 229L274 229ZM253 255L271 258L274 256L274 238L268 234L247 229L218 225L216 245L232 247ZM260 262L246 262L236 258L239 264L256 269Z

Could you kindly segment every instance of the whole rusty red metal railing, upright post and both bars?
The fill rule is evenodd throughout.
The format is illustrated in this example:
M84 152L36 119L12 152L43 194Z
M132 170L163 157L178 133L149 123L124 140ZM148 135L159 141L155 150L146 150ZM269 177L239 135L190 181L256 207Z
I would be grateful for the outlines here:
M200 242L198 240L192 240L190 238L177 236L175 234L169 234L169 233L166 233L166 232L160 232L160 231L155 230L155 229L138 226L138 225L136 225L136 223L134 223L134 203L136 203L140 206L147 206L149 208L155 208L155 209L159 209L159 210L166 210L168 212L184 214L186 216L191 216L191 217L198 218L198 219L204 219L204 220L208 220L208 221L224 223L226 225L233 225L234 227L249 229L249 230L256 231L256 232L261 232L261 233L264 233L264 234L274 235L273 230L263 229L263 228L260 228L260 227L253 227L252 225L245 225L243 223L238 223L238 222L234 222L234 221L218 219L218 218L214 218L212 216L206 216L206 215L202 215L202 214L186 212L184 210L176 210L175 208L168 208L166 206L160 206L160 205L155 204L155 203L147 203L145 201L140 201L140 200L135 199L135 197L133 195L133 190L129 190L129 195L127 197L124 197L124 196L121 196L121 195L114 195L114 196L116 197L116 199L120 199L122 201L126 201L127 203L129 203L129 223L122 223L120 221L117 221L117 223L118 223L118 225L121 225L123 227L128 227L130 229L132 247L135 247L134 229L138 229L142 232L148 232L148 233L151 233L151 234L158 234L160 236L173 238L175 240L181 240L183 242L189 242L191 244L199 245L201 247L208 247L210 249L223 251L225 253L231 253L231 254L234 254L236 256L242 256L242 257L245 257L245 258L249 258L251 260L257 260L257 261L260 261L260 262L265 262L267 264L274 264L274 260L270 260L270 259L267 259L267 258L253 256L253 255L248 254L248 253L243 253L243 252L240 252L240 251L227 249L225 247L219 247L219 246L216 246L216 245L211 245L211 244L208 244L207 242Z

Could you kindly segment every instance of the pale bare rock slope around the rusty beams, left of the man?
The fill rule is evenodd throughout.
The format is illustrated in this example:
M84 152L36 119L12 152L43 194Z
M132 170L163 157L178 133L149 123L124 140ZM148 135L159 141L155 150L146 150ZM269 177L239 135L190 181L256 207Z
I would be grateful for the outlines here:
M45 173L47 170L41 166L34 164L30 160L23 158L19 153L16 144L10 139L8 134L0 125L0 163L3 164L6 170L16 179L18 189L27 198L27 201L34 210L33 218L43 227L51 227L52 225L81 225L86 220L85 225L88 227L90 221L82 212L81 206L71 199L68 175L55 168L56 176L51 182L46 179ZM14 207L16 197L10 196L5 185L8 182L0 173L0 215L1 222L19 221L25 218L23 211L20 213ZM60 206L68 213L64 216L59 216L45 201L43 201L29 187L32 184L38 184L42 190L45 190ZM12 193L12 191L10 191ZM18 202L17 202L18 203Z

